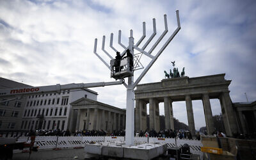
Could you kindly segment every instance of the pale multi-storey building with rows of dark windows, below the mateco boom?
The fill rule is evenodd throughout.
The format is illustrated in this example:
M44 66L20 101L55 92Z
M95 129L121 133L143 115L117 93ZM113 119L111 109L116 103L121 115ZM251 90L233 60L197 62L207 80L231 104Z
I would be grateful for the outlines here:
M72 109L70 103L81 97L97 100L97 95L97 92L89 89L28 95L20 129L67 130Z

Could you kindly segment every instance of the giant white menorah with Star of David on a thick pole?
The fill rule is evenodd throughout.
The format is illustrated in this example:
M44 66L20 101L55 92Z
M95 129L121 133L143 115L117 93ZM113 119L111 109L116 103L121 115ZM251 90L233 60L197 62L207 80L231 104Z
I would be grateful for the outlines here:
M131 67L131 68L129 68L129 61L131 61L131 60L129 60L129 58L126 58L125 60L122 60L120 65L118 65L118 66L113 65L112 62L115 61L115 59L105 50L105 36L103 36L103 38L102 38L102 51L105 52L107 54L107 56L111 59L111 65L108 65L108 63L106 63L106 61L104 61L99 56L99 54L97 54L97 38L95 38L94 53L106 65L106 67L108 67L109 70L111 70L111 77L114 77L115 79L119 79L120 81L123 81L122 80L123 78L128 77L128 84L124 83L124 86L127 88L125 145L131 146L134 143L134 88L136 87L136 85L138 83L140 83L143 76L145 76L145 74L147 74L150 67L152 67L152 65L155 63L155 61L160 56L160 54L164 51L164 49L167 47L167 45L170 44L170 42L172 41L174 36L177 35L177 33L179 32L179 30L180 30L180 20L179 20L179 11L178 10L176 11L176 15L177 15L177 24L178 24L177 29L175 29L175 31L172 33L170 38L168 38L168 40L164 43L163 47L161 47L161 49L159 49L159 51L156 52L155 56L152 55L152 52L154 51L154 49L156 49L159 42L161 42L163 37L168 32L166 15L164 15L164 27L165 27L165 29L164 29L162 35L159 36L159 38L157 39L155 44L152 45L152 47L150 48L150 50L148 52L146 52L145 49L148 47L148 44L150 44L150 42L152 41L154 36L156 36L156 19L153 19L153 33L152 33L152 35L148 38L147 42L141 48L139 47L139 45L141 44L141 42L146 37L146 24L145 24L145 22L143 22L143 35L141 36L140 40L138 40L138 42L135 45L134 45L134 38L132 37L132 29L130 30L129 45L127 47L125 47L125 45L122 44L122 42L121 42L122 31L120 31L120 30L118 31L118 44L121 45L124 48L124 51L122 52L121 56L124 56L125 52L127 52L127 50L129 49L129 51L131 52L131 54L133 56L133 58L132 58L132 61L133 61L133 59L135 58L134 49L136 49L137 51L140 51L142 54L145 54L146 56L151 58L150 63L148 63L147 67L144 68L144 70L141 72L140 76L136 79L135 82L134 82L134 76L133 76L134 75L134 70L136 70L136 67L138 67L138 63L140 63L140 58L136 58L136 61L135 61L135 63L132 63L133 67ZM110 36L109 47L111 47L111 49L113 49L113 51L117 52L115 47L113 47L113 33L111 33L111 36ZM114 67L122 67L122 69L118 68L118 70L116 71L116 70L114 70Z

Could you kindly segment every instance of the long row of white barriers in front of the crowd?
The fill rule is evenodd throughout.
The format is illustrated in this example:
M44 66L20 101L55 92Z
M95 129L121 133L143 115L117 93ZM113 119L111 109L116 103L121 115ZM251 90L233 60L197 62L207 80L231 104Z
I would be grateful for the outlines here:
M58 139L58 140L57 140ZM104 141L115 143L115 141L124 142L123 136L36 136L35 142L39 148L74 148L84 147L84 144L101 143ZM18 141L28 141L28 137L20 137ZM30 141L30 138L29 138ZM169 148L175 147L174 138L147 138L134 137L134 143L167 143ZM177 140L177 146L181 147L187 143L190 147L190 152L193 154L201 154L201 141L196 140Z

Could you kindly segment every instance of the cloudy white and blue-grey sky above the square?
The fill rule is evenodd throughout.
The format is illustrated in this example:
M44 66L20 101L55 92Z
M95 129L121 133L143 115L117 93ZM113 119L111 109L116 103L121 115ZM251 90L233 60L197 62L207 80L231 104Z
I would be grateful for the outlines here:
M179 10L181 29L150 68L142 83L161 81L163 70L170 70L170 61L186 68L189 77L225 73L231 79L233 102L256 100L256 1L0 1L0 77L33 86L67 83L114 81L108 68L93 54L94 39L102 52L102 36L106 35L106 50L110 34L118 45L118 30L127 45L129 30L134 41L142 35L146 22L147 38L152 34L152 19L156 18L156 42L164 30L163 15L167 15L169 32L159 48L177 27L175 10ZM148 51L149 47L146 49ZM153 52L153 55L156 52ZM148 59L142 56L146 66ZM136 72L136 77L141 70ZM125 79L127 81L127 79ZM98 100L125 108L124 86L92 88ZM212 113L221 112L220 102L211 100ZM201 100L193 101L196 129L205 125ZM185 102L174 102L173 113L188 124ZM160 114L164 114L160 104Z

